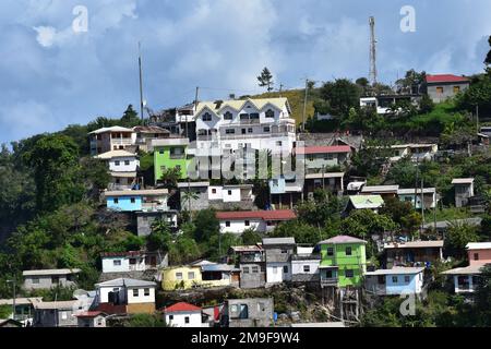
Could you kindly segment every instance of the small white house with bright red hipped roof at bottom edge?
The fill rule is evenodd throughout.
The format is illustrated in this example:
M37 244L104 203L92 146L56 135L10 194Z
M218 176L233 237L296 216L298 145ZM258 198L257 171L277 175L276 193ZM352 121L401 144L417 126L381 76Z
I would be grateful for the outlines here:
M185 302L165 308L164 318L170 327L208 327L203 323L202 309Z

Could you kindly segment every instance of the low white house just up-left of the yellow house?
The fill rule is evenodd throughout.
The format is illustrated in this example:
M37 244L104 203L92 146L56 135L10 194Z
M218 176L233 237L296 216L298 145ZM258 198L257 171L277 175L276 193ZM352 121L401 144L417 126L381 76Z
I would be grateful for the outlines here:
M130 251L100 254L103 273L128 273L156 269L164 264L165 256L158 252Z

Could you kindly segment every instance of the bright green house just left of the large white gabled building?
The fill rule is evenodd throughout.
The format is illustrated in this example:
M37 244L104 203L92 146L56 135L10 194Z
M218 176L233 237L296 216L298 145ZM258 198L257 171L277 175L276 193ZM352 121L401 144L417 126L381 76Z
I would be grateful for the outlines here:
M181 179L188 178L188 165L190 164L188 139L154 140L154 174L155 182L160 181L163 173L170 168L181 171Z

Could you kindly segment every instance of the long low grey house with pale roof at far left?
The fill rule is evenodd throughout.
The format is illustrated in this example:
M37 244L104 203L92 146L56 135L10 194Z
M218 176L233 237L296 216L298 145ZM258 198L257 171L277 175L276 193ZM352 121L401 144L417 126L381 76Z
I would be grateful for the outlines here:
M24 289L38 290L55 287L75 287L81 269L24 270Z

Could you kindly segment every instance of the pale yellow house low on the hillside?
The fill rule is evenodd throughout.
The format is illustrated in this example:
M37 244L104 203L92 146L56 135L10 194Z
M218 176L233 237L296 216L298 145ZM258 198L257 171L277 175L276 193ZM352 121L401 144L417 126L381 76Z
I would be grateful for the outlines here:
M161 272L161 288L166 291L190 289L201 286L202 276L200 266L175 266Z

